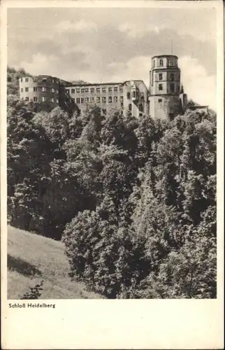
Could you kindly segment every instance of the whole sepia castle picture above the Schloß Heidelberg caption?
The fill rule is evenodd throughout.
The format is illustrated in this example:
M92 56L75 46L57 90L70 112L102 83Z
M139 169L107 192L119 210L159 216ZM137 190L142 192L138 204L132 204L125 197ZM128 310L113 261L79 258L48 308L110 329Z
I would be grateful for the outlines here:
M8 8L9 300L217 298L216 15Z

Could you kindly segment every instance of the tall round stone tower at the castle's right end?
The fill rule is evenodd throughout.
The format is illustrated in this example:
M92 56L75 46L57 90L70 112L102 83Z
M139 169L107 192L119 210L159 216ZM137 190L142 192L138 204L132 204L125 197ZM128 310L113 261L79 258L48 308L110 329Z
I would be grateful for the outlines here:
M175 55L152 57L150 116L173 118L180 112L180 68Z

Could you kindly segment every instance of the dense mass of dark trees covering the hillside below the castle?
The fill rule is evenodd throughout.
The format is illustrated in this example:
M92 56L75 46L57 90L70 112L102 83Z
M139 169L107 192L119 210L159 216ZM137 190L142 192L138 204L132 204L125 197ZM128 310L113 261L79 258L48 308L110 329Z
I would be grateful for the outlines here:
M8 97L8 221L62 239L110 298L216 297L216 118L27 110Z

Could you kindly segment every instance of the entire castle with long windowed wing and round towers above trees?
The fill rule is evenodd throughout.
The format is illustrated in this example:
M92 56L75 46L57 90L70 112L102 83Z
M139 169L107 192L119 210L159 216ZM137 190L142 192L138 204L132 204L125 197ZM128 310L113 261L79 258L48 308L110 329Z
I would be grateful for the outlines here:
M54 76L20 78L20 99L53 109L99 106L103 112L120 109L136 118L172 118L187 109L187 95L180 85L180 68L175 55L152 57L150 89L143 80L117 83L73 84Z

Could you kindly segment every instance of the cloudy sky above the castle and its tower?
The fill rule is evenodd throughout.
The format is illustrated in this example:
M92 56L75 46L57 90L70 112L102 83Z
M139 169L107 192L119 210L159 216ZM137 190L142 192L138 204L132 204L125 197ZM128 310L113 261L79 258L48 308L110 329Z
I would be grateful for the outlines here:
M172 44L173 43L173 44ZM213 8L10 8L8 65L88 83L141 79L151 57L179 57L184 92L216 110Z

